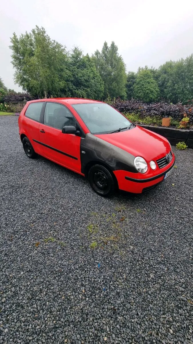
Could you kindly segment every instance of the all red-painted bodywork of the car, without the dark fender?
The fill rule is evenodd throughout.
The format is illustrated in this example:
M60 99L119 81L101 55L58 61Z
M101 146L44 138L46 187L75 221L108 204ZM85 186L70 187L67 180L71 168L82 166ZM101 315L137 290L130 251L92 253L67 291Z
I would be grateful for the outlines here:
M49 160L52 160L72 171L75 171L79 174L81 173L81 160L80 160L80 140L81 138L73 134L63 134L61 130L49 127L37 121L34 121L30 118L25 117L25 111L30 103L37 101L52 101L59 104L65 105L71 113L75 116L77 122L82 128L83 132L87 134L89 132L87 126L84 124L80 116L77 114L75 109L71 104L80 104L80 103L95 103L96 100L90 99L79 99L79 98L54 98L54 99L39 99L28 101L21 111L19 117L19 132L21 135L26 135L30 142L33 145L33 148L36 153L42 155ZM40 130L44 130L42 133ZM104 141L107 141L114 146L117 146L130 154L143 157L148 163L148 170L146 173L132 173L127 171L114 171L116 176L119 189L133 192L141 193L145 187L154 185L163 180L164 176L161 176L150 182L137 183L125 179L125 176L135 179L147 179L159 175L162 172L165 172L170 168L174 162L174 154L172 155L172 161L164 168L160 169L158 166L156 170L150 168L149 162L151 160L158 160L164 157L170 152L170 144L168 140L154 132L151 132L147 129L136 126L133 129L125 130L112 134L103 134L96 135ZM54 150L51 150L39 143L36 143L35 140L42 142L48 146L51 146L57 150L63 151L77 159L68 157L67 155L61 154ZM83 174L82 174L83 175Z

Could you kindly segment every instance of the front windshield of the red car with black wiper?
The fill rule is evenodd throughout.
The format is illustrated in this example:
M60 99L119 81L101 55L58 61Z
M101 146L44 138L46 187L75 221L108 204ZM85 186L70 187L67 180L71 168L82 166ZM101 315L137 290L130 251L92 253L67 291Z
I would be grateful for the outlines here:
M103 103L73 104L72 107L92 134L106 134L131 126L131 122L120 112Z

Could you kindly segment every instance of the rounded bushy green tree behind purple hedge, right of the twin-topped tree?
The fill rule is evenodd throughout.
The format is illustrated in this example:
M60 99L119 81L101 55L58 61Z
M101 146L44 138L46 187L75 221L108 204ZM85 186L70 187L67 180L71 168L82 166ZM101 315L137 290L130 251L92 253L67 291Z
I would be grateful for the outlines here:
M140 69L134 84L134 98L146 103L158 100L159 87L148 69Z

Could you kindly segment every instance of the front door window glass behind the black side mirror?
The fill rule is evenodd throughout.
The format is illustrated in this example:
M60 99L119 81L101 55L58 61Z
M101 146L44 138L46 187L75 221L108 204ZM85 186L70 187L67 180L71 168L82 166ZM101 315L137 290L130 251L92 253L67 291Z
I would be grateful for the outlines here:
M64 126L76 127L76 120L65 106L58 103L46 103L44 124L62 130Z

